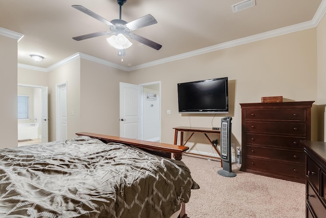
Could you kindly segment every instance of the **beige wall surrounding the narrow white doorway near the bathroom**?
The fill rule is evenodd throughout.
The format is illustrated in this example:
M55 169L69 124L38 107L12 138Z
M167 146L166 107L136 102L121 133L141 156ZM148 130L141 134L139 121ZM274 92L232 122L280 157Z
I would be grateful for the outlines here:
M80 131L80 59L48 72L49 141L56 141L56 86L67 82L68 139ZM72 113L73 112L73 115Z

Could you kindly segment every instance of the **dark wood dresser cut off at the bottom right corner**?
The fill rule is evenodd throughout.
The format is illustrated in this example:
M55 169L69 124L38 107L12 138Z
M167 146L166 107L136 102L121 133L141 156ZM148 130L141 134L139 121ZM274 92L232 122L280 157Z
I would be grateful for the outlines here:
M306 217L326 216L326 143L304 143L306 153Z

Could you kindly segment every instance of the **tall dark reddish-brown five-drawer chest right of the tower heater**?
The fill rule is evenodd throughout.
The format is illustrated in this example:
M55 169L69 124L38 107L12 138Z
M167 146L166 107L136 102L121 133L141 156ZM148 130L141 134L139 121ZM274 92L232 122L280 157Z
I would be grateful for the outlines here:
M313 102L241 103L241 171L305 183Z

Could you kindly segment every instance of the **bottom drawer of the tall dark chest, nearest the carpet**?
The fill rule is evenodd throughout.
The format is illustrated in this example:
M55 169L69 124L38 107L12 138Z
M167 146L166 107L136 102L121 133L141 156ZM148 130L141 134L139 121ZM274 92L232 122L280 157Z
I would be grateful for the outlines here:
M265 173L284 175L285 177L305 178L305 166L291 163L282 163L268 160L261 160L248 157L244 158L244 165L247 169L257 170Z

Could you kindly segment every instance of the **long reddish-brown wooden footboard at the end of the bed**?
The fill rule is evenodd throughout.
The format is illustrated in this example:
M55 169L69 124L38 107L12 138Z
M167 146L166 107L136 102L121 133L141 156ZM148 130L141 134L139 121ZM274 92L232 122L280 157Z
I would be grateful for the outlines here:
M159 142L149 142L144 140L137 140L137 139L128 139L122 137L115 137L112 135L103 135L103 134L96 134L90 132L77 132L76 135L86 135L93 139L98 139L104 143L108 142L116 142L125 145L131 145L137 148L141 148L151 154L155 154L161 157L168 157L171 158L172 154L174 155L174 159L181 160L182 154L186 152L189 147L180 146L180 145L171 145ZM185 213L185 204L182 203L182 209L179 215L180 218L187 218L187 214Z

